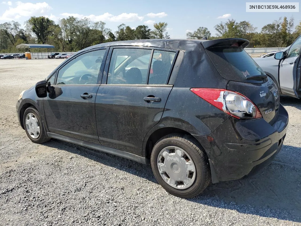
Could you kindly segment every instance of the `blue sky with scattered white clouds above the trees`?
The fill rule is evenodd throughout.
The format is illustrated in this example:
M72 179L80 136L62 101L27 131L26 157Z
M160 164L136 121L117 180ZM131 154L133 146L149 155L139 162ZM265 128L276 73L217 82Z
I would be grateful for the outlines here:
M167 31L171 38L186 38L188 31L194 31L198 27L207 27L211 35L215 36L214 26L232 18L237 22L250 21L258 27L258 32L265 24L272 23L279 17L293 16L295 25L301 21L299 12L246 12L246 2L237 0L0 0L0 24L14 20L23 25L31 16L46 16L57 22L59 18L69 15L89 17L95 22L101 20L113 32L122 23L132 28L145 24L153 29L154 23L164 21L168 23Z

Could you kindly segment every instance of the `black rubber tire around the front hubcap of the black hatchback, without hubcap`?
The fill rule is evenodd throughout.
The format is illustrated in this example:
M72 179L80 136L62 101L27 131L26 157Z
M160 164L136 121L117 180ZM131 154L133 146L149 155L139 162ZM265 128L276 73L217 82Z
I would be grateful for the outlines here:
M39 122L39 127L40 127L40 133L39 133L39 136L37 139L34 139L33 137L31 137L26 129L26 115L28 113L33 113L38 122ZM39 113L39 111L37 111L35 108L26 108L26 110L24 111L24 115L23 115L23 125L24 125L24 129L25 129L25 132L27 134L27 137L33 142L33 143L44 143L44 142L47 142L48 140L50 140L50 138L46 137L46 133L45 133L45 130L44 130L44 126L43 126L43 121L42 121L42 117Z

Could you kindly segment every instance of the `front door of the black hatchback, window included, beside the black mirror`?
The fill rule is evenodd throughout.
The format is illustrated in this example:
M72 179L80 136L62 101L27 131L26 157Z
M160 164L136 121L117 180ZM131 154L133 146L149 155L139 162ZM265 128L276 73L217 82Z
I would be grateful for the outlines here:
M57 70L55 85L51 85L53 91L43 99L46 123L51 133L99 143L95 99L106 54L106 49L84 52L67 60ZM52 76L48 81L53 81Z

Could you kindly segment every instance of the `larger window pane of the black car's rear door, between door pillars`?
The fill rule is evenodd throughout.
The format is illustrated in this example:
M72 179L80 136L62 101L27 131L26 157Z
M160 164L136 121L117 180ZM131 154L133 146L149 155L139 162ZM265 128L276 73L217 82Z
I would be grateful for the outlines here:
M113 49L107 84L147 84L150 58L151 49Z

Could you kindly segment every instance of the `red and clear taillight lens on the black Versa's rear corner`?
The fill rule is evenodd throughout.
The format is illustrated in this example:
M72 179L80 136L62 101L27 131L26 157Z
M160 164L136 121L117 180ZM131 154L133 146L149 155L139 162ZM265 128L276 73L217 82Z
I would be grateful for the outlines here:
M234 118L262 117L256 105L240 93L226 89L191 88L190 90Z

